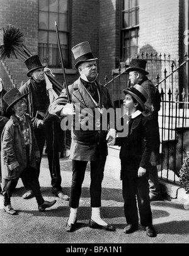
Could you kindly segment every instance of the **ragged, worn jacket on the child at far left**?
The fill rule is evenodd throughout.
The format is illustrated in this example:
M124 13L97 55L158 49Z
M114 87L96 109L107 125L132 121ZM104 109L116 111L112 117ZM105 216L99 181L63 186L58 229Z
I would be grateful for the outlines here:
M35 157L40 157L40 152L33 133L31 117L28 114L25 116L30 134L30 166L37 169ZM21 133L20 122L15 115L6 123L1 135L1 168L2 177L9 180L19 177L26 168L25 140Z

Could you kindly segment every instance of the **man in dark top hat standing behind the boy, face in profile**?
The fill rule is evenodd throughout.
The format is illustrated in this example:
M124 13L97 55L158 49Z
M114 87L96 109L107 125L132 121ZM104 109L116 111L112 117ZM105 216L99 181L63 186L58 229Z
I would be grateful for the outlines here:
M158 111L160 109L161 97L159 90L153 85L153 83L147 78L149 74L146 71L146 60L144 59L132 59L130 67L127 68L126 73L129 73L130 85L134 86L136 84L141 85L149 95L146 101L146 111L145 115L151 117L153 125L153 148L150 159L149 167L147 171L149 173L149 197L152 200L161 199L161 190L159 186L159 179L157 175L157 165L160 164L159 157L159 124L158 124Z

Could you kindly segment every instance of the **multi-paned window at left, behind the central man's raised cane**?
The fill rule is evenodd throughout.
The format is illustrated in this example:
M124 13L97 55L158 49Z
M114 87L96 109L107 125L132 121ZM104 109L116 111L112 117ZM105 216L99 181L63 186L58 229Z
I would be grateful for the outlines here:
M60 68L55 21L59 30L64 68L69 68L70 0L38 0L38 55L50 68Z

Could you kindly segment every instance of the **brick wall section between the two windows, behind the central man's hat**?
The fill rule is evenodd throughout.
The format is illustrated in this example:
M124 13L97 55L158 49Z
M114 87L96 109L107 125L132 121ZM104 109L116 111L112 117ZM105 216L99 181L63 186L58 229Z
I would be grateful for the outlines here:
M112 69L119 57L119 27L117 0L72 1L72 46L88 40L98 58L99 80L105 84L105 76L112 79ZM72 66L74 58L72 56Z

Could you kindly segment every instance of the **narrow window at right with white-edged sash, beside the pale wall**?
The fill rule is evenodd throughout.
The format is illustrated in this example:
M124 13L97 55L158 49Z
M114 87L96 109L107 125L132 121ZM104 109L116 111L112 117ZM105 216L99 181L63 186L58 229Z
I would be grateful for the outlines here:
M135 58L139 38L139 0L122 0L121 60Z

